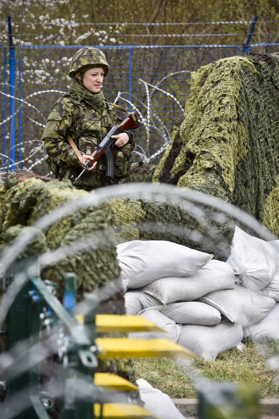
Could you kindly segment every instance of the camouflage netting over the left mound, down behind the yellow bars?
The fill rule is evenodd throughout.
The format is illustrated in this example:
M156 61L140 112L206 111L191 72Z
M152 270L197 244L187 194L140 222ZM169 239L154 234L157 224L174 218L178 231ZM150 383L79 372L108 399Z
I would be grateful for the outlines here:
M25 174L21 176L26 177ZM70 181L44 181L38 177L30 177L22 182L19 180L20 177L10 177L7 192L5 185L0 185L1 248L11 243L22 231L30 229L38 235L18 255L18 259L54 251L71 243L76 243L78 248L83 238L89 235L93 238L94 233L99 232L97 238L101 237L101 241L96 250L64 257L61 261L44 268L41 279L57 282L57 296L61 299L64 273L75 272L78 280L78 300L83 298L84 292L96 290L116 279L119 266L116 259L116 240L111 228L115 217L111 215L109 204L81 209L59 222L54 222L42 233L34 230L31 225L60 205L87 196L88 192L76 189ZM117 292L101 303L98 312L124 314L123 292ZM2 349L3 344L5 347L5 342L0 341ZM132 363L127 359L102 360L99 369L118 373L135 382Z

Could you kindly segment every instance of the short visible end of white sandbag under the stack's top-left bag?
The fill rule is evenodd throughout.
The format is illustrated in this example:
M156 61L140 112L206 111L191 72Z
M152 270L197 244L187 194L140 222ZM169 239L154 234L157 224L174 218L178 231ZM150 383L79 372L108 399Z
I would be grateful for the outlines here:
M124 295L127 316L134 316L145 308L160 304L157 298L141 291L127 291Z

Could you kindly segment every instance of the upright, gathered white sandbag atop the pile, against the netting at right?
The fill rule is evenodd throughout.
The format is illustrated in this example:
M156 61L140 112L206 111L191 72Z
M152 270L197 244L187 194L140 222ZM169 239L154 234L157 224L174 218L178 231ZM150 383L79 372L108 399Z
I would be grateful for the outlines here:
M227 263L233 266L238 284L251 291L264 288L273 278L277 252L271 244L235 226Z

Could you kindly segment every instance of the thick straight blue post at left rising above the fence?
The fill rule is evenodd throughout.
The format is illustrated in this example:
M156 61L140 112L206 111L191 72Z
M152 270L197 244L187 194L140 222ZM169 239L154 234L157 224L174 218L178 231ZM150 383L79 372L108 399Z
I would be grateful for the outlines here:
M10 53L9 53L9 65L10 65L10 165L15 163L15 118L12 117L13 114L13 101L15 96L15 46L13 45L13 38L12 38L12 25L10 16L8 16L8 30L9 30L9 46L10 46ZM15 109L14 109L15 111ZM15 166L12 166L13 169ZM11 169L11 170L13 170Z

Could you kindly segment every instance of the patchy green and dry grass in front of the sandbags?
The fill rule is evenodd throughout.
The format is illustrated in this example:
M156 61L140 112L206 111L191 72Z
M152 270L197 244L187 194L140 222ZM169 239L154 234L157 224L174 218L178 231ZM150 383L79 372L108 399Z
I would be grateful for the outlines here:
M255 343L243 341L243 350L236 348L222 352L215 361L196 358L195 373L213 381L231 381L250 384L258 390L261 398L279 397L279 370L271 370L267 360L279 354L278 342L270 340ZM137 378L144 378L153 387L172 398L195 398L189 369L181 367L179 361L171 358L143 358L134 360ZM277 377L278 378L278 377Z

